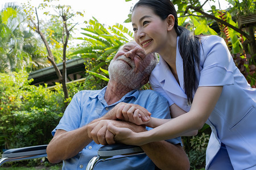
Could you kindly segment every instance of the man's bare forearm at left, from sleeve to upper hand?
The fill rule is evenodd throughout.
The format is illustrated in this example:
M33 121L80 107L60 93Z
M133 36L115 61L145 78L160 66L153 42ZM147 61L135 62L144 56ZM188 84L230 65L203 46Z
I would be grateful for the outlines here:
M92 122L90 122L90 124L85 125L82 128L72 130L72 131L65 131L62 129L56 130L54 137L52 138L51 142L49 142L49 145L47 146L47 157L49 162L59 163L61 162L61 160L69 159L77 155L80 151L82 151L83 148L85 148L90 142L92 142L92 138L88 136L88 126L100 120L116 120L117 119L116 114L122 113L122 109L123 109L122 105L129 105L130 107L136 106L132 104L119 103L112 110L106 113L105 116L100 117L96 120L93 120ZM145 114L142 114L143 116L150 114L147 112L146 109L144 109L144 112ZM139 120L141 120L141 118L139 118ZM125 127L129 128L130 126L125 126ZM111 135L110 132L109 134ZM112 139L112 140L113 138L114 136L109 137L109 139Z

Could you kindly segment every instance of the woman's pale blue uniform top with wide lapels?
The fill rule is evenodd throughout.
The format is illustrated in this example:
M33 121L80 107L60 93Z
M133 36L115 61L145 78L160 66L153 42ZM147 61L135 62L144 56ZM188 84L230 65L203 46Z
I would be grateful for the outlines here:
M177 43L179 37L177 37ZM207 166L224 143L234 169L256 166L256 89L251 88L234 64L225 44L218 36L201 38L200 69L196 72L200 86L223 86L220 98L208 118L212 134L207 148ZM178 47L178 44L177 44ZM176 50L176 69L180 86L167 63L160 57L152 71L152 88L168 99L170 105L177 104L188 112L184 90L183 59ZM194 93L195 95L195 93Z

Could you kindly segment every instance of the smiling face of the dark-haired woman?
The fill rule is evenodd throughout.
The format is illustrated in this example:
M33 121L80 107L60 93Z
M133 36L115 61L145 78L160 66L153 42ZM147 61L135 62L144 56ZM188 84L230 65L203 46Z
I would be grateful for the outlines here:
M134 39L146 54L156 52L167 44L167 20L162 20L147 6L137 6L131 16Z

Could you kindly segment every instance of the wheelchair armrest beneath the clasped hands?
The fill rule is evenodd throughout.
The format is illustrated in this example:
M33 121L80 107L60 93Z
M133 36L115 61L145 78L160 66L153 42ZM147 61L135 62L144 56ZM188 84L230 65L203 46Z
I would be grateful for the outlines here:
M137 154L139 152L144 152L141 147L134 145L125 145L122 143L117 143L114 145L105 145L98 150L98 155L100 156L115 156L115 155L127 155L127 154Z

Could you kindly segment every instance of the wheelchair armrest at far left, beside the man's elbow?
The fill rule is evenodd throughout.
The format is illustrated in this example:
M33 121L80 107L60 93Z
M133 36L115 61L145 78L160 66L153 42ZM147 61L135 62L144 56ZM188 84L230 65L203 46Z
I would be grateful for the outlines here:
M13 148L3 152L0 166L6 162L46 157L47 145Z

